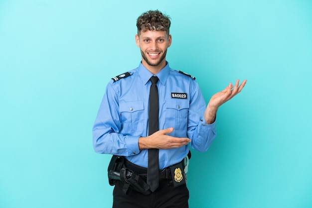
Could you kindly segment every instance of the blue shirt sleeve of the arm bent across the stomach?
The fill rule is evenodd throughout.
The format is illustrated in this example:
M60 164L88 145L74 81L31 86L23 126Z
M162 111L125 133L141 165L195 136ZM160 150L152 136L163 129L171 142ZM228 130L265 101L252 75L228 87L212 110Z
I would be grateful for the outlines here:
M119 113L118 93L110 82L106 88L93 125L93 147L95 152L131 156L139 154L139 136L123 135Z

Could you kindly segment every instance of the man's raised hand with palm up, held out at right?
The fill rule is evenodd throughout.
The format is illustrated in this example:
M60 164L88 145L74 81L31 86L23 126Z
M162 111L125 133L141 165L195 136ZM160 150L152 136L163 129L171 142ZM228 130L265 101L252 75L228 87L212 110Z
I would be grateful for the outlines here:
M214 122L218 107L240 93L246 82L247 80L244 80L242 84L239 85L239 80L237 80L234 88L232 83L230 83L223 91L218 92L211 97L204 114L206 123Z

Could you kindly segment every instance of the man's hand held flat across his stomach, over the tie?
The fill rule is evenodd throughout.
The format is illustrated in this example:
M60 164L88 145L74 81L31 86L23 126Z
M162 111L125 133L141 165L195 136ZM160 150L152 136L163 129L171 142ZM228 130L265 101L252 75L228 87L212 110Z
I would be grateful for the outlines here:
M139 149L172 149L184 146L188 144L191 140L189 138L178 138L166 135L171 133L173 128L167 128L163 130L158 130L154 134L147 137L139 138Z

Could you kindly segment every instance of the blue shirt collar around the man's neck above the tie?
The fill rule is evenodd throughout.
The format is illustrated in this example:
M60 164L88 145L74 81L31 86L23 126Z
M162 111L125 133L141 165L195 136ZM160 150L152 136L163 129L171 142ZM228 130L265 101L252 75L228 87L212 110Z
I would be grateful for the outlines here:
M140 65L138 67L139 75L143 81L143 83L146 85L152 76L154 76L143 64L140 62ZM166 83L166 80L170 73L170 67L169 63L166 61L165 67L163 67L156 76L158 77L160 83L164 85Z

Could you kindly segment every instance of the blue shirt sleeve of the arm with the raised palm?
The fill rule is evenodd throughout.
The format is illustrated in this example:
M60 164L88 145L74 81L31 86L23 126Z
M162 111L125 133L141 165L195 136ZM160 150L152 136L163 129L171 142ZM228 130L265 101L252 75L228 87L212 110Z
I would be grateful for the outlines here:
M198 84L194 81L190 106L188 110L187 136L192 141L191 147L197 151L207 151L212 141L216 137L216 121L206 124L204 112L206 104Z

